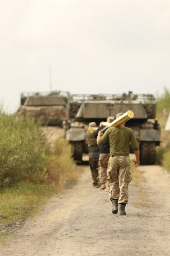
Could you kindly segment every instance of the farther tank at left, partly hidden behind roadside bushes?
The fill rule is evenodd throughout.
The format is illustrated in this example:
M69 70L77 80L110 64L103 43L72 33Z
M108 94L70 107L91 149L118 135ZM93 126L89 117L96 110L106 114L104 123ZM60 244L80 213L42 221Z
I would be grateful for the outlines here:
M68 93L22 93L18 116L29 113L35 121L41 117L42 125L48 121L48 125L62 126L66 119L67 101Z

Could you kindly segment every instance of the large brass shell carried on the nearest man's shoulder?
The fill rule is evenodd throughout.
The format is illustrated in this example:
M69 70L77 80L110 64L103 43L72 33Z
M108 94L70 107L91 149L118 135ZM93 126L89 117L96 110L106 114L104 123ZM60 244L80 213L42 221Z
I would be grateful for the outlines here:
M125 114L120 116L119 118L115 119L113 122L111 122L109 125L107 125L105 128L102 129L102 133L104 134L106 130L110 127L118 127L119 125L122 125L122 123L128 121L129 119L133 118L134 113L131 110L128 110Z

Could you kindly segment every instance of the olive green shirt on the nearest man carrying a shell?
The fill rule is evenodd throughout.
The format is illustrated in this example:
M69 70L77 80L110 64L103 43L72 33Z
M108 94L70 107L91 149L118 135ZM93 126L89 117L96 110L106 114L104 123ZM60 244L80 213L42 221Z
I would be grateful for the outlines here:
M138 151L139 145L136 141L134 131L127 127L111 127L98 140L98 145L102 145L109 139L110 154L129 154L129 143L131 142L133 150Z

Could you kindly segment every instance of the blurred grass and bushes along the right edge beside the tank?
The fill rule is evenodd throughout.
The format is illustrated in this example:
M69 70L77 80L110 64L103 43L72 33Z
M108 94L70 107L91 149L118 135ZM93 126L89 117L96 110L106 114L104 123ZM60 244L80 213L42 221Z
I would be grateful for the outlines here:
M161 146L157 149L156 161L157 164L164 166L167 171L170 171L170 131L165 131L167 117L170 113L170 91L164 88L164 93L157 97L156 101L158 122L161 127ZM167 116L164 116L163 109L166 108Z

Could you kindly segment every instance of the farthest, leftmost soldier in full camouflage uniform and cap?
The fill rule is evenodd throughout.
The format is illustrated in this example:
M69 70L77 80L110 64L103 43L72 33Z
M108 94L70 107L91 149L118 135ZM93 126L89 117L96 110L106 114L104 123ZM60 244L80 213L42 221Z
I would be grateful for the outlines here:
M89 127L96 127L95 122L90 122ZM97 141L94 138L94 133L89 133L88 131L85 133L85 140L88 143L88 155L89 155L89 165L91 169L91 175L93 179L93 185L95 188L98 188L98 167L99 167L99 146L97 145Z

